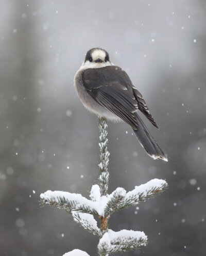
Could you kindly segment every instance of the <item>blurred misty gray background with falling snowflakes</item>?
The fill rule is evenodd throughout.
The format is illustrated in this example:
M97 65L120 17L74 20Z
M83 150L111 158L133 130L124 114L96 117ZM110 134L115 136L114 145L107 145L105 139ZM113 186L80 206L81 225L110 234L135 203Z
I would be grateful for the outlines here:
M139 210L112 215L110 228L148 235L124 255L205 255L205 1L2 0L0 13L0 254L97 255L98 238L41 208L39 195L88 197L97 181L97 117L73 79L84 54L103 47L143 94L160 130L145 123L169 156L154 161L128 125L109 123L110 193L154 178L169 184Z

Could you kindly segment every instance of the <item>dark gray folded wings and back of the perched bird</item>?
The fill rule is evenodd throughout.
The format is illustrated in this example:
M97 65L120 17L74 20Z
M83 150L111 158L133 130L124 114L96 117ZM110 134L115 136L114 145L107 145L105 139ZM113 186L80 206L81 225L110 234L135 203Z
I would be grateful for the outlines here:
M132 85L127 73L116 66L86 69L82 74L85 89L100 105L138 130L134 113L137 109L155 125L142 94Z

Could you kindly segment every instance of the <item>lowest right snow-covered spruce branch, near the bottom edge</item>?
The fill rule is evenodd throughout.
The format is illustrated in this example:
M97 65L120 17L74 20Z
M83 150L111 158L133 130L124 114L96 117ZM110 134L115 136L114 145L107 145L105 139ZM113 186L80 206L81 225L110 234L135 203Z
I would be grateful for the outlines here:
M147 236L144 232L133 230L121 230L114 232L108 230L99 240L98 253L107 255L122 251L131 251L146 246Z

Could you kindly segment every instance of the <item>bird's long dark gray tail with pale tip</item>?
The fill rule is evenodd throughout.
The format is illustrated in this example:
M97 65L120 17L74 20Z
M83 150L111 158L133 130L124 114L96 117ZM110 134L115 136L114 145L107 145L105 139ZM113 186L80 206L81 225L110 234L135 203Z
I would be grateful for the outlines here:
M138 130L133 130L133 131L136 137L138 138L138 140L140 141L142 147L145 149L147 154L151 156L153 159L160 158L167 162L168 161L167 155L158 146L157 142L149 133L142 119L138 116L138 114L136 114L135 117L138 120L139 127L138 127Z

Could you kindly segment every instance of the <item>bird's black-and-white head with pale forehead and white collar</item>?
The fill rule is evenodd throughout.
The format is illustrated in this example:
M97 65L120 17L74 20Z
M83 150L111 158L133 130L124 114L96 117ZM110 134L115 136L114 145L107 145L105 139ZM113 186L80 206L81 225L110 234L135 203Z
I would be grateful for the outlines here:
M85 69L104 68L111 65L108 52L101 48L89 50L82 63L82 67Z

